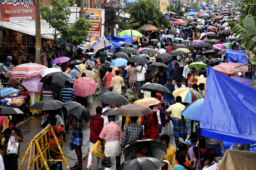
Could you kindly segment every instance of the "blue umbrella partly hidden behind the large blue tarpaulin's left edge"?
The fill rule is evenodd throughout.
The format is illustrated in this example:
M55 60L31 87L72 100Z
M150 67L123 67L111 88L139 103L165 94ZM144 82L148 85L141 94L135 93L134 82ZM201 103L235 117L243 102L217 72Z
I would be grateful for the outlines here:
M186 107L186 109L182 111L182 115L185 118L200 121L203 111L203 103L204 99L198 99L196 101L193 101Z

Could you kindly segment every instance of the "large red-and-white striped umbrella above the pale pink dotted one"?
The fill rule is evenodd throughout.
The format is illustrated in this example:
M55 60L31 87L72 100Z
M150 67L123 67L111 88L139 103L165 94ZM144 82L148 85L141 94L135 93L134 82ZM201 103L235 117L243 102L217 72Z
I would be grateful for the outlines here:
M44 69L48 69L48 67L36 63L20 64L14 67L12 71L8 71L5 74L5 77L30 78L32 76L40 76L39 73Z

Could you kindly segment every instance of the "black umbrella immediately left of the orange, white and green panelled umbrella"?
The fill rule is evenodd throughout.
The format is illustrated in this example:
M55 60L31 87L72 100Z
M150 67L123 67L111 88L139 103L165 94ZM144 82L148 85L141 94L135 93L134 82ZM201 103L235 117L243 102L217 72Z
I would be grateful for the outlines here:
M156 73L156 75L157 74L159 74L159 73ZM147 92L172 94L172 92L168 88L164 87L161 84L157 84L157 83L144 84L143 86L140 87L140 89L143 90L143 91L147 91Z

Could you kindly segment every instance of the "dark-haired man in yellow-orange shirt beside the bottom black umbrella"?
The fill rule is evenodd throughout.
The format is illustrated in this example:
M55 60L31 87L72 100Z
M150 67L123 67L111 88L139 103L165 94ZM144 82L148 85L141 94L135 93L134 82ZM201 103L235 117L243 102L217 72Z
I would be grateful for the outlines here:
M165 143L167 145L167 147L166 147L167 154L164 156L164 158L172 164L172 159L173 159L174 155L176 154L176 149L169 144L170 136L163 134L161 136L160 140L162 143ZM162 160L164 158L161 158L160 160Z

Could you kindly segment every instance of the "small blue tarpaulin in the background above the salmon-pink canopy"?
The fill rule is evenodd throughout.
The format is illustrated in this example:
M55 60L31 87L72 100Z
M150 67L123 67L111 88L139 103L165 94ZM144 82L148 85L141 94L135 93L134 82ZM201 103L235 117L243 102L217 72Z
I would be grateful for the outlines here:
M226 49L227 62L248 64L246 52Z

